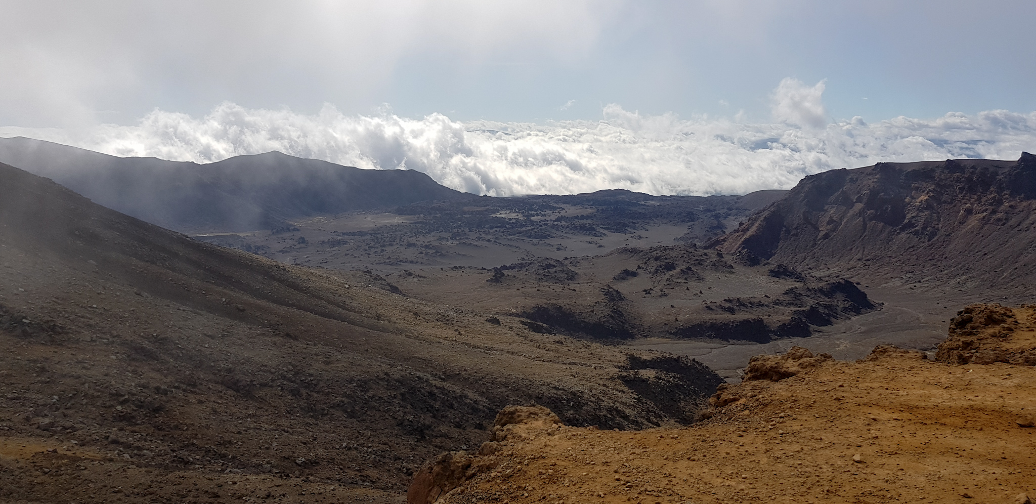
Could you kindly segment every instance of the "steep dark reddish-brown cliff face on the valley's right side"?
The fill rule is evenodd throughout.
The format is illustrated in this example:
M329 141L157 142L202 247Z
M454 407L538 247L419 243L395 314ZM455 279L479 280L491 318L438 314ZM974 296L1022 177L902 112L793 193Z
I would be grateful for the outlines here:
M1036 156L880 163L804 178L711 245L864 278L1019 290L1036 272ZM954 285L957 286L957 285Z

